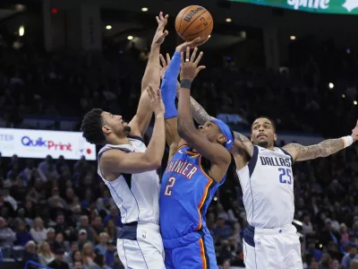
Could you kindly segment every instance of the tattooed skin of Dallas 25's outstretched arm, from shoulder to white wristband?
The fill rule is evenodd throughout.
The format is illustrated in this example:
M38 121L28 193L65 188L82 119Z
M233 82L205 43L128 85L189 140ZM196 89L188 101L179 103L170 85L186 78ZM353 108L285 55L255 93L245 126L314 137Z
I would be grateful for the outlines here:
M314 144L311 146L303 146L298 143L289 143L284 149L287 152L292 152L295 155L295 161L306 161L312 160L320 157L327 157L331 154L343 150L345 143L342 139L328 139L321 143Z

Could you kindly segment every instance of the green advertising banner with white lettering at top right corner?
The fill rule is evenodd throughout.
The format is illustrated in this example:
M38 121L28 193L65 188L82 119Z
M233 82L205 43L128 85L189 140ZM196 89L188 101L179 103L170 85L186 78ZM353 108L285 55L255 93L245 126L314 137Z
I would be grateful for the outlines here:
M229 0L311 13L358 14L358 0Z

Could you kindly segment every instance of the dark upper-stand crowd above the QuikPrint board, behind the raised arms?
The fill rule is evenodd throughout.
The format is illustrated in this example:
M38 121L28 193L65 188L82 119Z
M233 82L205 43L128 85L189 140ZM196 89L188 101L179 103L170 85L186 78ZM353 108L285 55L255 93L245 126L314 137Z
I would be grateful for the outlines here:
M175 47L164 45L162 53ZM135 113L148 51L134 43L101 55L46 54L26 46L0 51L0 126L26 127L25 115L80 121L90 108L124 118ZM268 115L279 129L326 136L341 135L339 130L354 123L358 54L353 48L297 40L289 67L277 72L247 65L235 47L205 55L202 64L208 68L195 79L192 95L210 115L228 115L227 121L237 125Z

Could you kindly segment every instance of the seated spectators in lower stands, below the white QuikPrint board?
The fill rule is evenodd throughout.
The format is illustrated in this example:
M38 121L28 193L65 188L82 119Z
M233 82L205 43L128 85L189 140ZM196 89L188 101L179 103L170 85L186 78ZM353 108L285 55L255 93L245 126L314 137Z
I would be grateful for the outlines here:
M356 268L356 150L352 146L294 165L294 225L301 236L304 268ZM121 216L96 168L95 162L83 158L1 158L2 257L52 268L124 268L115 251ZM243 266L247 221L234 170L209 206L207 225L218 264Z

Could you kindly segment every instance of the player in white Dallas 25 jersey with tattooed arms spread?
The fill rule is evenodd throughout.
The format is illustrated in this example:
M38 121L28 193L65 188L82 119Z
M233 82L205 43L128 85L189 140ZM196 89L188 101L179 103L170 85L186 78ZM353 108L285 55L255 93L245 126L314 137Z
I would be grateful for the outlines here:
M161 56L162 65L166 60ZM169 60L169 57L167 57ZM202 68L201 68L202 69ZM199 72L200 70L197 70ZM191 98L192 115L200 124L211 119ZM276 129L268 117L257 118L251 126L251 140L234 132L233 153L243 189L248 228L244 230L243 256L249 269L302 269L301 244L294 221L294 161L327 157L358 139L358 123L352 135L303 146L289 143L274 146Z

